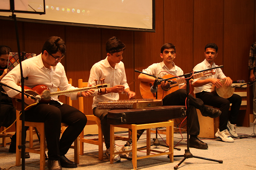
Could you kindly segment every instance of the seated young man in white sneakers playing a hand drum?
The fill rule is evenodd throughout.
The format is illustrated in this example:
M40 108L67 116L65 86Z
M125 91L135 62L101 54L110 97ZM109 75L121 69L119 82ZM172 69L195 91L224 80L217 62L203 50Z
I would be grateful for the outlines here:
M197 64L193 71L206 70L212 67L217 67L214 63L214 59L218 55L218 46L214 43L207 44L204 48L205 59L202 63ZM204 104L213 107L220 108L220 125L216 137L220 138L224 142L234 142L234 139L230 137L231 134L234 137L238 137L236 134L235 123L239 113L239 108L241 105L241 97L237 94L233 94L230 98L225 99L216 94L211 93L211 86L215 85L217 88L222 86L230 86L232 80L226 77L220 68L215 69L216 73L212 77L201 77L195 79L192 84L194 85L194 93L196 97L203 100ZM220 80L224 79L225 83L222 85ZM229 105L231 106L231 114L228 115ZM228 131L229 133L228 133Z

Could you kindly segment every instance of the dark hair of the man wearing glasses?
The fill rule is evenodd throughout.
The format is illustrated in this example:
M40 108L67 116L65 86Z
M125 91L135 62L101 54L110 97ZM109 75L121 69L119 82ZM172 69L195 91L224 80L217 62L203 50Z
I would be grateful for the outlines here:
M66 45L60 37L53 36L45 41L42 48L42 54L44 53L44 50L46 50L50 54L55 54L60 51L61 54L64 55L66 53Z

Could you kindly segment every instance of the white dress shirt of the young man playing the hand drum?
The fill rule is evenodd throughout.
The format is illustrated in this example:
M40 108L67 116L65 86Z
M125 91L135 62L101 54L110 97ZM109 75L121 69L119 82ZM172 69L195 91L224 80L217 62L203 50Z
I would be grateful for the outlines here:
M196 71L206 70L206 69L210 69L210 68L214 68L214 67L218 67L218 65L215 65L215 63L213 62L212 66L211 66L211 64L208 63L208 61L206 59L204 59L203 62L197 64L194 67L193 71L196 72ZM197 80L205 80L207 78L219 78L219 79L226 78L225 74L222 72L222 70L220 68L214 69L214 70L215 70L215 74L214 75L194 79L192 84L195 83ZM203 85L201 87L194 87L194 93L196 94L196 93L199 93L199 92L202 92L202 91L212 92L211 88L212 88L212 83L208 83L208 84Z

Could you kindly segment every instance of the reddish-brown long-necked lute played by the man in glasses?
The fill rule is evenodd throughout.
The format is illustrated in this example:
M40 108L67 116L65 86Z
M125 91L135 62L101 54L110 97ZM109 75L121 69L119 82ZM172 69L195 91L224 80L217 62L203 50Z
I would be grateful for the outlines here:
M59 95L77 93L77 92L84 92L84 91L88 91L90 89L103 89L103 88L108 88L108 87L110 87L110 84L100 84L100 85L83 87L83 88L72 89L72 90L50 92L49 88L46 85L37 85L33 88L24 86L24 92L29 95L34 95L34 96L40 95L41 100L39 101L39 103L47 103L48 104L48 103L50 103L51 97L53 97L53 96L59 96ZM12 104L16 110L21 111L21 100L20 99L12 98ZM25 108L26 107L28 107L28 105L25 103Z

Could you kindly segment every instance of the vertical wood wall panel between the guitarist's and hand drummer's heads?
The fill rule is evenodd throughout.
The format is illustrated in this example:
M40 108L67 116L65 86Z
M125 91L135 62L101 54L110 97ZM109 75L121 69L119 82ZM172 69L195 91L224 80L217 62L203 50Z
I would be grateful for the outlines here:
M164 43L175 45L176 58L173 62L184 73L192 71L193 1L164 1Z

